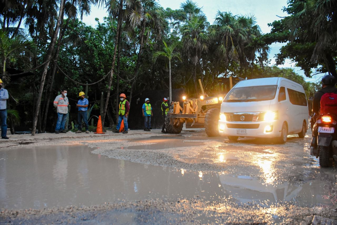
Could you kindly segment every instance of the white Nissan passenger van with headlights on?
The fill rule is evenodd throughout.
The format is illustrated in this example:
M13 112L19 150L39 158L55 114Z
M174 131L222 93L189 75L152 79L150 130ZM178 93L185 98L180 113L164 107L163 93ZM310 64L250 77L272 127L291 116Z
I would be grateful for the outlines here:
M302 85L281 77L244 80L237 83L221 103L219 134L238 137L304 138L309 117Z

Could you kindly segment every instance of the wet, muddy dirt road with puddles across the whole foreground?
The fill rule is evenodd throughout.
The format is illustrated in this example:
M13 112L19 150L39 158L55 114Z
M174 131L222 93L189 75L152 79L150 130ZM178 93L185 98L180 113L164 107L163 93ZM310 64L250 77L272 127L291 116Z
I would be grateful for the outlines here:
M283 145L208 138L203 130L11 138L0 142L0 221L296 224L310 215L337 219L336 165L319 167L309 155L309 136L288 136ZM63 144L56 145L61 138Z

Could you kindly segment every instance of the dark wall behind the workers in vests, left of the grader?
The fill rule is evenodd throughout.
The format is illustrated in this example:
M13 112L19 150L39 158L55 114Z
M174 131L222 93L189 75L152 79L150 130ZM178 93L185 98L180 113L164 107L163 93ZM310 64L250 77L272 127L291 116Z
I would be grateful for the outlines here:
M181 102L182 96L185 93L185 89L173 89L172 90L172 101ZM144 117L142 114L142 107L145 103L145 99L150 99L150 104L152 106L153 116L151 118L152 129L159 129L163 125L163 117L161 113L161 103L163 98L168 99L168 90L152 90L144 91L140 94L132 96L132 102L130 106L130 113L128 119L128 125L130 129L144 129ZM168 104L170 105L170 100Z

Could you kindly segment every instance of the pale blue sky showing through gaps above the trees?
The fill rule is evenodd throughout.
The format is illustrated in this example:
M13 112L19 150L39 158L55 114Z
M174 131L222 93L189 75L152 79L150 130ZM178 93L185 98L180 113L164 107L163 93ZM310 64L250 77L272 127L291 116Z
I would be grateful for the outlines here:
M159 4L163 8L179 9L182 0L158 0ZM210 24L213 24L214 18L216 17L217 11L221 12L232 12L233 15L252 15L256 18L256 23L260 26L263 33L269 33L270 27L268 23L272 23L275 20L280 20L280 17L284 17L287 14L283 12L283 7L287 5L287 0L194 0L199 7L202 7L207 20ZM97 23L95 18L98 18L100 22L103 21L103 17L107 16L105 9L99 9L92 6L91 13L89 16L83 17L83 22L87 25L96 26ZM272 44L269 58L271 59L271 64L275 63L275 54L279 52L279 49L283 46L282 43ZM295 63L290 60L286 60L284 65L279 65L279 67L290 67L293 68L297 74L304 76L304 72L299 68L295 67ZM305 78L306 81L315 82L319 77L324 75L319 75L313 78Z

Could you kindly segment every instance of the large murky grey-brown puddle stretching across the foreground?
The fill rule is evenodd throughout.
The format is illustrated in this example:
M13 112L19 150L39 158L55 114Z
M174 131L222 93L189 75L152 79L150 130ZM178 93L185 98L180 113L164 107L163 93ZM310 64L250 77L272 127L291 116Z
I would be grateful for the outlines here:
M39 209L195 197L211 202L331 205L321 195L326 184L322 181L266 185L250 176L145 165L106 158L92 150L84 145L1 150L0 208ZM231 157L228 155L228 159Z

